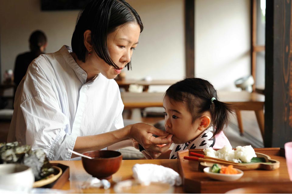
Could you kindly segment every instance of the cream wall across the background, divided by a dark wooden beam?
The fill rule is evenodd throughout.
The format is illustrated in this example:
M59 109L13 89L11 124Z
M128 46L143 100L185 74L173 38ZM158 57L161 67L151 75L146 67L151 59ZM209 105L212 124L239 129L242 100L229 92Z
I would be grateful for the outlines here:
M127 2L144 24L127 79L181 79L185 75L184 1ZM210 80L217 89L234 90L234 80L250 72L249 0L195 0L195 12L196 76ZM43 12L40 0L0 1L2 74L14 68L17 54L29 49L28 38L35 29L47 34L46 52L71 45L77 15L78 11Z

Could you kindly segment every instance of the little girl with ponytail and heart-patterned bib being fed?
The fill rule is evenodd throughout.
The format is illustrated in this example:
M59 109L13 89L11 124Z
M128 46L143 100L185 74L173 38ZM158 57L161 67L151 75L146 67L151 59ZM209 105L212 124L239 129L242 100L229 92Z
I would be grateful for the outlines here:
M165 129L173 135L175 144L161 155L155 153L159 159L176 159L177 152L185 149L231 147L222 129L232 109L218 100L217 91L207 80L186 78L171 85L165 92L163 107Z

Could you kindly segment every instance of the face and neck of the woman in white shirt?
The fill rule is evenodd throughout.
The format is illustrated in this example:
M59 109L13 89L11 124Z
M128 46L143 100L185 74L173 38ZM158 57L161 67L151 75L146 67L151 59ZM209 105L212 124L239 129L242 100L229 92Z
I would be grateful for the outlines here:
M140 26L137 23L121 25L107 36L109 56L120 69L108 65L95 53L89 57L91 64L98 64L95 65L98 73L101 72L107 79L114 79L130 62L133 50L138 44L139 36Z

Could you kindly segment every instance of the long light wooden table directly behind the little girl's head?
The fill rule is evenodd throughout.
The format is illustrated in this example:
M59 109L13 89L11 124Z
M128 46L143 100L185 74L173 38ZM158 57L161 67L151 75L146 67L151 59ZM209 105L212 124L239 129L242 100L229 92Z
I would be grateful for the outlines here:
M134 93L121 92L121 97L125 105L125 109L146 108L146 107L162 107L163 106L163 92L157 93ZM264 135L264 113L263 107L265 103L265 96L258 93L241 92L225 92L218 91L217 93L221 102L233 104L236 108L236 116L240 133L243 134L241 110L255 111L256 119L261 130L262 137Z

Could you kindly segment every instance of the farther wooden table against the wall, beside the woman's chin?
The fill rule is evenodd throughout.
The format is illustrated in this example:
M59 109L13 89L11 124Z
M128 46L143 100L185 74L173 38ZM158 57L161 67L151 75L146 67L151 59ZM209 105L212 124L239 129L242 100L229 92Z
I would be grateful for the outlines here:
M147 92L149 89L149 85L172 85L179 80L134 80L134 79L122 79L116 80L116 83L119 85L120 88L124 88L126 92L129 92L129 87L131 84L137 84L143 86L143 91Z

